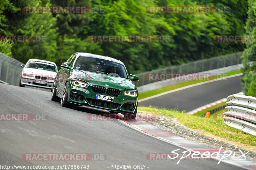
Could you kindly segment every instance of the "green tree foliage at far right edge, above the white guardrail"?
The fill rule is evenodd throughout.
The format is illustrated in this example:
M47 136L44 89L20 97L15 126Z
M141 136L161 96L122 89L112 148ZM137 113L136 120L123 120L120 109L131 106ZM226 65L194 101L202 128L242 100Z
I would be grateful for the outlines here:
M246 21L246 33L256 35L256 5L254 0L249 0L248 19ZM247 42L243 54L242 86L245 95L256 97L256 44Z

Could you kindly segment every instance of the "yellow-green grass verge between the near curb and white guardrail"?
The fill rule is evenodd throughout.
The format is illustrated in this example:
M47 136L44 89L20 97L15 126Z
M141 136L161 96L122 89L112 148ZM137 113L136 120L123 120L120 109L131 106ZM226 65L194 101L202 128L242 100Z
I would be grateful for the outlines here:
M179 122L188 128L201 129L212 135L222 137L224 139L239 142L242 144L256 146L256 137L246 134L241 130L229 127L223 122L222 115L225 110L220 110L212 114L210 118L200 117L199 115L187 115L186 113L176 110L167 110L153 107L138 107L138 110L150 112L156 115L177 118Z

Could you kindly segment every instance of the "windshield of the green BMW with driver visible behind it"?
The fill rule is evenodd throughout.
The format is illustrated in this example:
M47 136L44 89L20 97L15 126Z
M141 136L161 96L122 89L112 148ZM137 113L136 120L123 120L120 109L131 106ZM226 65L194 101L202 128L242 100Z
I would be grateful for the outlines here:
M79 57L74 69L128 78L124 65L99 58Z

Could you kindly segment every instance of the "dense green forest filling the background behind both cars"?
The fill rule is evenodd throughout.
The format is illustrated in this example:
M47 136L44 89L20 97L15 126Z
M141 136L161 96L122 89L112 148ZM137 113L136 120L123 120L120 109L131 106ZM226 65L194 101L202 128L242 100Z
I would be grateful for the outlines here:
M148 13L148 6L218 6L228 12ZM24 6L90 6L85 14L25 14ZM96 10L95 10L96 9ZM99 11L98 11L99 9ZM46 41L1 44L5 54L59 66L74 52L117 58L132 74L242 51L242 43L213 41L214 35L241 35L246 0L0 0L0 34L45 36ZM90 42L90 35L156 35L169 41ZM6 47L5 47L6 46Z

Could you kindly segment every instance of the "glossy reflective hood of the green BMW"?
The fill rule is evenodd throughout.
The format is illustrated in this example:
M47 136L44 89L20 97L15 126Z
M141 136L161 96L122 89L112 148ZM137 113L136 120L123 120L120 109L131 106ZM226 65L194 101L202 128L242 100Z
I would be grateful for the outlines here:
M86 81L87 83L102 85L109 85L109 87L121 87L125 89L135 89L135 85L130 79L120 78L105 74L98 74L83 70L73 70L76 78Z

